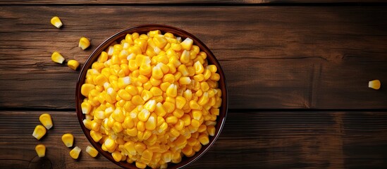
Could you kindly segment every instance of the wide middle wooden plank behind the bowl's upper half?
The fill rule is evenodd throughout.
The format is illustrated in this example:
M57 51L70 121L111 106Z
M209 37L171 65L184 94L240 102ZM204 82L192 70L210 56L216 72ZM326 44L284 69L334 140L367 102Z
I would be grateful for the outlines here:
M0 6L0 107L74 108L78 72L51 52L83 63L113 33L156 22L209 46L230 108L387 108L387 90L367 87L387 82L386 19L384 6Z

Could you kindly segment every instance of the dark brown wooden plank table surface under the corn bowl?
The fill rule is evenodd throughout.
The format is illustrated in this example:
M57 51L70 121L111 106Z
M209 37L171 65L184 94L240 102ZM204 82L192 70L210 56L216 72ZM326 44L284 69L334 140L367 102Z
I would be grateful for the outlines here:
M84 63L115 32L149 23L201 39L228 81L223 132L188 168L387 168L386 2L0 0L0 168L118 168L85 154L79 70L50 56ZM61 29L49 23L54 15ZM381 89L367 87L374 79ZM42 113L54 128L37 141ZM61 143L66 132L83 150L79 161Z

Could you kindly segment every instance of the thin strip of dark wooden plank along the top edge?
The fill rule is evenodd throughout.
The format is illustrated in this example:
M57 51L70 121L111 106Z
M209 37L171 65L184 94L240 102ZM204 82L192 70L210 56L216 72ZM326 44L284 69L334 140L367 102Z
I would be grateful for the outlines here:
M70 0L70 1L63 1L63 0L14 0L14 1L6 1L6 0L0 0L0 5L44 5L44 4L128 4L128 5L138 5L138 4L145 4L145 5L153 5L153 4L216 4L216 5L222 5L222 4L321 4L321 3L380 3L380 2L386 2L386 0L168 0L168 1L155 1L155 0L131 0L131 1L125 1L125 0L116 0L116 1L109 1L109 0Z

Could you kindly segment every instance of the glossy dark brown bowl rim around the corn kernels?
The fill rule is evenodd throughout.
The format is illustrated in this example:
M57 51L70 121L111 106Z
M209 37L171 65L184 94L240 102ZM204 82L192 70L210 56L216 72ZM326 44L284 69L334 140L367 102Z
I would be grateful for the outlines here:
M192 156L189 158L184 156L180 163L176 163L176 164L175 163L168 163L168 168L183 168L183 167L189 165L190 163L193 163L201 156L203 156L203 154L206 153L209 150L209 148L214 144L215 140L219 137L219 134L221 134L221 130L222 130L223 125L224 125L225 120L226 120L227 106L228 106L226 79L224 77L223 70L221 69L221 65L219 64L219 62L216 60L214 54L212 54L212 52L208 49L208 47L206 45L204 45L199 39L197 39L196 37L194 37L190 33L185 32L184 30L180 30L176 27L171 27L171 26L166 26L166 25L140 25L137 27L130 27L130 28L125 29L121 32L118 32L115 35L106 39L104 42L102 42L102 44L100 44L97 47L97 49L95 49L92 52L90 57L87 58L85 65L83 65L82 70L80 70L80 75L78 77L77 88L76 88L76 93L75 93L76 111L77 111L77 115L78 115L78 120L80 123L80 127L83 130L83 133L85 133L87 139L89 139L90 144L92 144L92 146L94 146L94 148L99 151L99 154L102 154L102 156L105 156L110 161L112 161L113 163L116 163L117 165L120 165L123 168L136 168L134 163L127 163L126 161L123 161L123 162L114 161L111 154L109 154L109 152L103 151L101 148L102 145L99 144L98 142L94 142L92 137L90 137L90 130L88 130L85 127L85 125L83 125L83 122L82 122L82 120L85 119L85 115L82 113L82 108L80 107L80 104L82 104L82 101L83 101L83 99L85 99L85 96L82 96L82 94L80 93L80 88L81 88L82 84L85 83L85 76L86 76L87 70L89 68L91 68L92 63L97 61L99 54L101 54L101 52L104 51L110 44L112 44L115 41L119 42L119 41L121 41L121 39L125 39L126 34L132 34L133 32L137 32L141 35L141 34L146 34L150 30L161 30L161 32L163 34L166 32L171 32L171 33L173 33L173 35L176 35L177 37L178 36L182 37L182 39L189 37L190 39L192 39L194 41L195 45L199 46L200 51L204 51L207 53L207 60L208 60L209 64L216 65L216 67L218 68L218 73L221 76L221 79L219 80L219 88L222 91L222 96L221 96L222 105L220 107L220 114L216 119L216 121L217 121L216 126L215 126L216 133L215 133L214 137L209 137L209 144L207 144L206 146L202 146L202 149L200 149L200 151L198 151L195 154L195 156Z

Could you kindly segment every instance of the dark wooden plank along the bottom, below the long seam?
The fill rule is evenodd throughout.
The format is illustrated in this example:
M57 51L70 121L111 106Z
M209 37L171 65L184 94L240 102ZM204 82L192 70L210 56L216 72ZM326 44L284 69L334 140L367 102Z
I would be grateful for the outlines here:
M85 153L75 112L48 112L54 128L36 141L41 113L0 111L1 168L116 168ZM66 132L82 149L79 161L61 142ZM386 142L387 112L230 111L216 144L188 168L386 168ZM47 145L47 158L37 158L36 144Z

